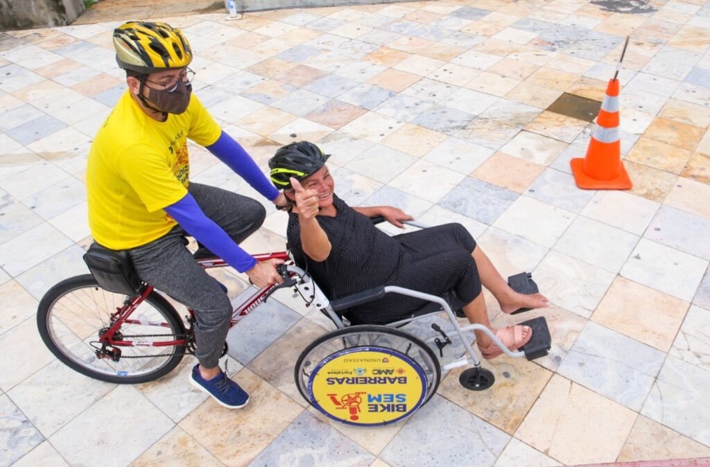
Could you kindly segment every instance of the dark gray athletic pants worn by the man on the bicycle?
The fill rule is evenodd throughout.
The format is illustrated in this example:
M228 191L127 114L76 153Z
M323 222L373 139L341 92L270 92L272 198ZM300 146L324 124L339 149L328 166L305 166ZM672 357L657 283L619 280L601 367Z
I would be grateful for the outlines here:
M190 182L188 190L204 214L217 223L236 243L253 234L266 217L266 209L254 199L224 189ZM229 331L229 297L212 277L195 262L175 226L157 240L129 250L142 280L188 308L195 310L195 356L204 368L219 363Z

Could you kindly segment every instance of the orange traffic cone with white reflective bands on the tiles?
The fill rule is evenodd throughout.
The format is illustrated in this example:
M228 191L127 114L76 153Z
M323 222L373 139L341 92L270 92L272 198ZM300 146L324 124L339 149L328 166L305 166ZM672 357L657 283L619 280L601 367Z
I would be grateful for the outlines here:
M584 159L569 161L574 181L582 189L631 188L631 180L621 163L618 96L618 79L609 79L586 155Z

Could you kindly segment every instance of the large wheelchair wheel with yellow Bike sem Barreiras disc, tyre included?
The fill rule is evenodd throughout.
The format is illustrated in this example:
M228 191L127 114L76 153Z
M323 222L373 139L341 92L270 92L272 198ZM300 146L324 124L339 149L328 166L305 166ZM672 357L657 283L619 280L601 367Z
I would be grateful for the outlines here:
M300 354L295 382L320 412L346 424L398 422L435 394L439 360L415 336L388 326L330 331Z

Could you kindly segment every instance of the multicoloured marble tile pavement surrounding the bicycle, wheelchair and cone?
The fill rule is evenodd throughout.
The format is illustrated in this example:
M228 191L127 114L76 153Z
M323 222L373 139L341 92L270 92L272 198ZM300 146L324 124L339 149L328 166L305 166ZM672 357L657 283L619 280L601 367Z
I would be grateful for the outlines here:
M290 141L333 154L351 204L464 224L504 275L532 271L550 356L446 375L405 422L354 429L307 407L300 349L332 324L283 292L231 331L232 412L187 383L84 378L55 361L38 300L85 273L84 171L125 90L121 21L0 33L0 466L535 467L710 456L710 9L650 0L441 0L162 18L195 49L195 93L257 162ZM129 19L129 18L126 18ZM581 191L592 124L547 108L601 100L621 53L634 187ZM253 195L192 146L193 180ZM248 251L285 246L270 210ZM221 272L236 298L244 276ZM492 299L487 295L488 299ZM514 322L488 300L493 323ZM520 319L522 320L522 319ZM107 456L107 453L111 453Z

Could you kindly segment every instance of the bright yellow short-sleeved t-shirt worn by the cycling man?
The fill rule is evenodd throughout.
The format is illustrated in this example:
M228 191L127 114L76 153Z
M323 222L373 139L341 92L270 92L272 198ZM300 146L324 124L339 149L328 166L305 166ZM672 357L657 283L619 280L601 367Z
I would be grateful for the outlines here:
M126 91L89 150L87 198L94 240L126 250L173 229L176 222L163 208L187 194L187 138L208 146L221 133L195 95L185 112L160 122Z

